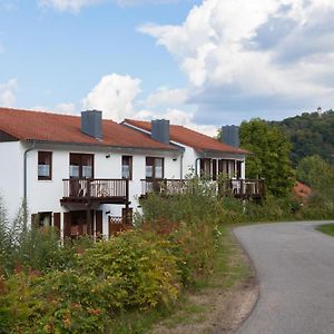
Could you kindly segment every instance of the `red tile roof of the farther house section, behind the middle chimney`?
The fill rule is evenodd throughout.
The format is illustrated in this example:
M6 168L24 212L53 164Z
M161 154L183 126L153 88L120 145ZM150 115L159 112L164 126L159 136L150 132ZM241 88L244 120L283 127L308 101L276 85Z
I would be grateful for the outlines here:
M149 121L125 119L124 122L147 131L150 131L151 128L151 124ZM230 154L249 154L245 149L235 148L217 139L214 139L209 136L190 130L183 126L170 125L169 135L170 135L170 140L193 147L199 151L207 150L207 151L219 151L219 153L230 153Z

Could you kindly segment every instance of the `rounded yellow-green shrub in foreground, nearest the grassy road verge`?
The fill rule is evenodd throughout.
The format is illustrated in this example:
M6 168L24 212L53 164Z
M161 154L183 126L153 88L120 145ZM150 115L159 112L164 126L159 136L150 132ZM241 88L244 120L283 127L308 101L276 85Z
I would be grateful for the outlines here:
M144 230L129 230L87 249L79 259L85 274L117 285L119 308L168 305L179 292L177 259L168 240Z

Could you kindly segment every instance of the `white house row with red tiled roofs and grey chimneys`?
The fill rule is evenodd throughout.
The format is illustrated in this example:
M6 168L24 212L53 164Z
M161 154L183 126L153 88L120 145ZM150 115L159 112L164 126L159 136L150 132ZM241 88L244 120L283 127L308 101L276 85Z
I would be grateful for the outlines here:
M75 237L111 235L154 180L191 170L244 178L246 151L165 120L119 125L96 110L79 117L0 108L0 154L10 217L26 199L29 222Z

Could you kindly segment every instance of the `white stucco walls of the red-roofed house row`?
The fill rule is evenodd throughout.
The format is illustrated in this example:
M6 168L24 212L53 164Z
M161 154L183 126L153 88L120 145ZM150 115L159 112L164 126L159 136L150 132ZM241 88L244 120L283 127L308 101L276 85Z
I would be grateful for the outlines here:
M23 155L31 144L19 141L0 143L0 154L3 158L0 174L0 194L10 217L14 217L20 208L23 197ZM38 180L38 151L52 151L52 179ZM27 195L29 214L40 212L62 213L69 212L61 206L60 199L63 196L63 178L69 178L69 153L94 154L95 178L121 178L121 156L132 156L132 180L129 181L130 207L136 210L138 196L141 195L141 179L145 179L146 157L164 158L165 178L179 179L195 171L196 159L199 155L191 147L184 146L183 156L180 151L164 153L160 150L131 151L129 149L92 148L84 146L65 146L51 144L38 144L28 154L27 164ZM109 156L107 158L107 155ZM222 159L245 160L245 156L222 155ZM243 164L243 178L245 177L245 164ZM199 163L198 163L199 169ZM101 205L98 209L102 210L104 233L108 232L108 215L121 216L124 205ZM29 215L30 216L30 215Z

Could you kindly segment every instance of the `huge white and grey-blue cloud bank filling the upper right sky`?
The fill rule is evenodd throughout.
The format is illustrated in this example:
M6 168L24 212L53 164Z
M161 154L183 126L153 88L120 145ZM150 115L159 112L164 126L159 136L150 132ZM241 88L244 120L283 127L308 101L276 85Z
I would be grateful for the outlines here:
M204 0L180 26L138 30L187 76L195 119L210 110L216 122L224 112L331 107L333 14L330 0Z

